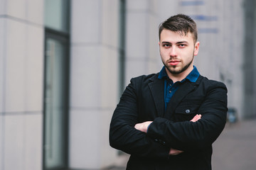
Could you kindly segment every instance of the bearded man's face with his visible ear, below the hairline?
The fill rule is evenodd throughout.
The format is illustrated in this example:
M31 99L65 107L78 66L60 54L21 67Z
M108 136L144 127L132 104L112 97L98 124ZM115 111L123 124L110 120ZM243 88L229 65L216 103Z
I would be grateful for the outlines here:
M199 42L194 44L191 33L181 35L164 29L160 35L159 49L167 74L182 77L193 70L193 57L198 55Z

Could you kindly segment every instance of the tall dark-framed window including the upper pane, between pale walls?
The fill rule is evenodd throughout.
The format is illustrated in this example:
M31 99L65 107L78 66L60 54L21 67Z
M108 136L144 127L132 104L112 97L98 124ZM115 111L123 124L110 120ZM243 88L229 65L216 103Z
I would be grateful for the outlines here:
M45 0L43 169L68 169L69 0Z

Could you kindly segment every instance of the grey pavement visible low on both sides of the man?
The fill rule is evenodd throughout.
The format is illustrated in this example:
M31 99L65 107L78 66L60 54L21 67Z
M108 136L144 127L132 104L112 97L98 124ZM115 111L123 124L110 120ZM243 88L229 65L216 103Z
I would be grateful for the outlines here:
M125 170L128 154L122 154L107 170ZM213 170L256 169L256 119L227 123L213 143Z

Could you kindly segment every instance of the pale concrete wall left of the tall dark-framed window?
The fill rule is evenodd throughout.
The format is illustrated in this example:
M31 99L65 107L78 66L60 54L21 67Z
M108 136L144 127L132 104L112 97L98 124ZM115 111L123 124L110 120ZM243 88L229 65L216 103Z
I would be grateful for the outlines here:
M0 4L0 169L41 169L43 0Z

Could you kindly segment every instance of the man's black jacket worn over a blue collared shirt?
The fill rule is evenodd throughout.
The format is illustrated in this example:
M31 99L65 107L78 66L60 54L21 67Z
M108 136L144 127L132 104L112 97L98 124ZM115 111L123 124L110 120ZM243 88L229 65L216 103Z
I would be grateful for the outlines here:
M185 81L164 111L164 80L159 74L131 79L110 123L110 145L131 154L127 169L211 169L212 144L227 113L223 83L199 76ZM201 114L196 123L190 120ZM136 123L154 120L146 133ZM170 148L184 151L169 156Z

